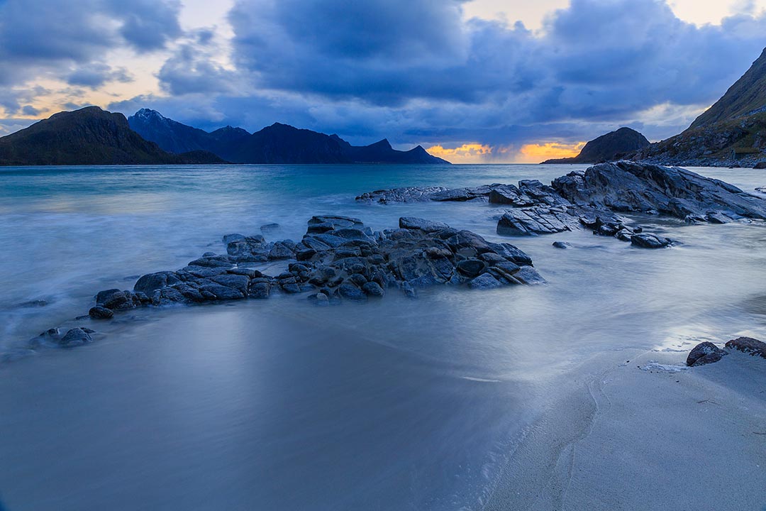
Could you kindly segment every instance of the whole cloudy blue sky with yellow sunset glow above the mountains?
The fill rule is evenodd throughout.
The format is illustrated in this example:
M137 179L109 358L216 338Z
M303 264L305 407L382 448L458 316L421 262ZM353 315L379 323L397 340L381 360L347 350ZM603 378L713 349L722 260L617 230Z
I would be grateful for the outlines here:
M0 0L0 136L149 107L538 162L679 133L764 47L766 0Z

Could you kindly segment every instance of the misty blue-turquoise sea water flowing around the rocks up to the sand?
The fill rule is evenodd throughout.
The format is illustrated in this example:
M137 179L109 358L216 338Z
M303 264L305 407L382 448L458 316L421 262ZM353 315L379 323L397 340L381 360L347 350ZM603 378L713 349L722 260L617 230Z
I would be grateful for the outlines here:
M354 200L575 168L0 169L0 351L81 324L98 290L224 251L222 234L277 222L298 240L317 214L374 229L402 215L445 221L511 241L549 281L329 309L276 296L98 323L91 346L0 366L0 496L14 510L481 509L525 428L591 356L766 333L761 225L637 218L683 241L642 251L586 232L500 238L501 209L482 203ZM698 172L766 185L748 169Z

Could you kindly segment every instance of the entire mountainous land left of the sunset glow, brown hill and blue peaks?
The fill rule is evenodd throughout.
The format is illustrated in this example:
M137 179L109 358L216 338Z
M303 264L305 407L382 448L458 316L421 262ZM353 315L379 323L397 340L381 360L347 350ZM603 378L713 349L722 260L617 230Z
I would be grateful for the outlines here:
M449 165L421 146L398 151L383 139L352 146L325 135L274 123L256 133L241 128L208 133L142 109L126 119L98 106L56 113L0 138L0 165L210 165L224 163L408 163Z

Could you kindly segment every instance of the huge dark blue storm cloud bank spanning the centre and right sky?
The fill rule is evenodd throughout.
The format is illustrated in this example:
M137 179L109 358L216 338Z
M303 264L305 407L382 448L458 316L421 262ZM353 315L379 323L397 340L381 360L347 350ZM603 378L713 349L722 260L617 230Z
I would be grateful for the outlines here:
M763 18L698 28L656 0L573 0L542 35L464 22L461 3L241 0L234 58L262 87L386 106L450 100L538 123L710 102L766 42Z

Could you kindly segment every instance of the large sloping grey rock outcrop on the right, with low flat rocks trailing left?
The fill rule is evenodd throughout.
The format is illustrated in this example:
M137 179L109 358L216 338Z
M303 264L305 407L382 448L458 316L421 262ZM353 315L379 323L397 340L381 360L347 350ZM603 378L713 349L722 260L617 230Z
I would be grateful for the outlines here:
M694 222L727 223L766 218L766 201L739 188L685 169L634 162L602 163L570 172L550 186L537 180L477 188L394 188L358 201L487 201L503 211L498 234L553 234L586 228L643 248L668 247L673 240L645 233L621 213L669 215Z

